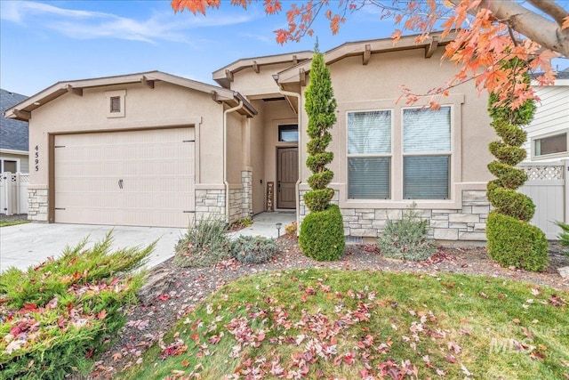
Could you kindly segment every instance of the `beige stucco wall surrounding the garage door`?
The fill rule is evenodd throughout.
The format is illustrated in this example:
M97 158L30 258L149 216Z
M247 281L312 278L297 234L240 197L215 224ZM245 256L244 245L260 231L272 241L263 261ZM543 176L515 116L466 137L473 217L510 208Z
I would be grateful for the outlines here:
M108 117L109 91L125 91L124 117ZM144 85L113 85L85 88L83 96L66 93L32 112L30 146L38 146L39 170L30 185L47 186L48 134L83 133L137 128L196 126L196 183L222 182L222 105L209 94L177 85L156 82Z

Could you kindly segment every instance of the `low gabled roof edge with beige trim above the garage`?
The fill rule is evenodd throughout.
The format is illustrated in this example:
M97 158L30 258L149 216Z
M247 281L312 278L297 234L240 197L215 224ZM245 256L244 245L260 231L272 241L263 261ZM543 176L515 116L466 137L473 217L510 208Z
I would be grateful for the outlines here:
M257 110L254 109L252 105L246 101L240 93L236 93L235 91L231 91L216 85L208 85L203 82L198 82L185 77L166 74L161 71L148 71L116 77L100 77L58 82L55 85L47 87L44 91L30 96L27 100L20 101L20 103L12 106L9 109L6 109L4 112L4 117L15 118L18 120L29 120L31 118L31 112L34 109L43 106L49 101L59 98L64 93L75 93L77 95L83 95L84 88L101 87L107 85L126 85L134 83L140 83L140 85L148 85L149 87L154 88L155 81L164 81L173 85L180 85L192 90L209 93L211 94L213 101L217 101L219 103L225 102L230 107L234 107L239 103L239 101L243 101L243 109L239 109L237 112L247 117L257 115Z

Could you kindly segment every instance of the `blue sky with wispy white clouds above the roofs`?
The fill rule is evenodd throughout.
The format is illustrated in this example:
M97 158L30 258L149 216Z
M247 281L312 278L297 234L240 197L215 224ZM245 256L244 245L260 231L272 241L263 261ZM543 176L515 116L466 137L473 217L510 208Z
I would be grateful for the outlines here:
M273 30L286 26L284 12L267 16L262 2L244 11L222 1L204 17L174 13L169 0L0 0L0 84L29 96L58 81L154 69L213 84L212 71L241 58L312 50L316 36L326 51L393 31L370 7L350 15L336 36L322 18L315 36L280 45Z

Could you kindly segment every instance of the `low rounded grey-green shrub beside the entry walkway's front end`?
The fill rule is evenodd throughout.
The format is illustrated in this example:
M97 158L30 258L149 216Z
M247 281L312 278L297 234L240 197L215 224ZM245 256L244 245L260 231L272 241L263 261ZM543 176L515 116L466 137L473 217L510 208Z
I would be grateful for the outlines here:
M266 263L278 252L274 239L240 236L231 242L231 256L240 263Z

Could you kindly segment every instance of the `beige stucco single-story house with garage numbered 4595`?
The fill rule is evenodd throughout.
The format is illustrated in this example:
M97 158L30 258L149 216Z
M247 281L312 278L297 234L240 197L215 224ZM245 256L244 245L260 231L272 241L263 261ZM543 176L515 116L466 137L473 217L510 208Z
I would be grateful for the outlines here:
M331 186L345 233L374 238L414 202L443 240L485 240L495 138L487 97L454 87L441 108L398 101L453 75L448 40L415 36L325 53L338 103ZM307 214L304 91L312 52L242 59L207 85L159 71L64 81L6 111L30 123L29 218L185 227L279 209Z

